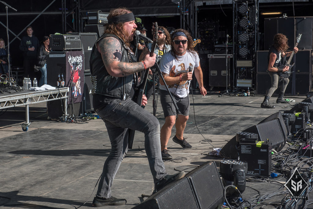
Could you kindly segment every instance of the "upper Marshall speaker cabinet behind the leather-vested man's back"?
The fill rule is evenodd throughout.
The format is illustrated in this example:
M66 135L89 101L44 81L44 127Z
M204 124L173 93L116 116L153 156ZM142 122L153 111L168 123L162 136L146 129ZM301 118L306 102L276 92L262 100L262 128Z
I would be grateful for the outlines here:
M81 42L83 44L84 52L84 69L85 72L90 72L89 59L91 50L94 47L96 40L98 39L97 33L80 33Z

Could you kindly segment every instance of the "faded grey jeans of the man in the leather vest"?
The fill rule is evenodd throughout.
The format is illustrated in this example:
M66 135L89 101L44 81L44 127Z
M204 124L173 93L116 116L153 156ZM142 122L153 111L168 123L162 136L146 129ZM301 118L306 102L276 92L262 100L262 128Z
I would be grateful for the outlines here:
M156 183L167 175L161 156L160 124L155 116L131 99L115 99L103 109L96 109L96 112L105 122L111 142L111 151L103 166L97 196L111 197L110 187L128 150L125 135L127 128L145 134L145 150L153 181Z

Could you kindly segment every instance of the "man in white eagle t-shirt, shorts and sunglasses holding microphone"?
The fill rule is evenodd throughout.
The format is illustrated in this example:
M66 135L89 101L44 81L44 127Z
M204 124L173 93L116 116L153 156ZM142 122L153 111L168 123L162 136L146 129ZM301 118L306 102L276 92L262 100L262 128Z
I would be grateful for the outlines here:
M172 156L168 154L167 143L171 137L174 124L176 135L173 137L173 141L183 148L192 147L185 140L186 138L183 137L183 133L189 118L189 85L193 71L199 84L200 93L203 96L207 94L207 90L203 87L200 59L198 53L193 49L192 37L188 31L183 29L175 30L172 33L171 46L171 51L164 54L160 60L160 69L167 87L177 103L178 112L173 105L165 84L160 79L160 99L165 117L165 124L161 128L160 136L163 160L172 159ZM191 72L188 72L188 69Z

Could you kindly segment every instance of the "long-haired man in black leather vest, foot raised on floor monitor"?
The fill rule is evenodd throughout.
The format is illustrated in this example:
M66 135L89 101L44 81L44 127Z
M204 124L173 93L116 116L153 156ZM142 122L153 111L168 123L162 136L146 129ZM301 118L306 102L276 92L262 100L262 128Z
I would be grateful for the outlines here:
M97 194L92 206L124 205L125 199L111 195L113 179L128 150L128 129L145 134L145 149L150 171L158 191L185 175L181 171L168 175L161 157L160 124L156 117L132 100L135 94L134 74L152 67L156 54L136 62L129 48L137 26L134 14L126 8L112 9L104 34L96 41L90 55L93 77L93 106L105 122L111 142ZM141 105L147 104L145 96Z

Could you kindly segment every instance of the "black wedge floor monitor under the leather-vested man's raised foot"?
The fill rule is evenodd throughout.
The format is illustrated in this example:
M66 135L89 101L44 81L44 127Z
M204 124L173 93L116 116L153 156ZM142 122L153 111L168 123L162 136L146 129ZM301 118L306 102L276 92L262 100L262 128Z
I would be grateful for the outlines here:
M133 209L215 209L220 208L223 201L222 181L215 163L211 161L189 172L184 178L165 186Z

